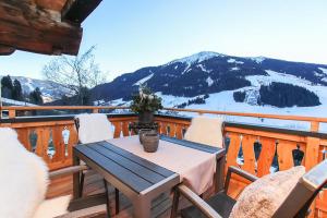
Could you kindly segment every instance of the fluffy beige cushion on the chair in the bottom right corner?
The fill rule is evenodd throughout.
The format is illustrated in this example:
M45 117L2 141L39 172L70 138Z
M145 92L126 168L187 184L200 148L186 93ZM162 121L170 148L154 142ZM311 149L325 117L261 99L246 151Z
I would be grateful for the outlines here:
M304 167L293 167L267 174L247 185L233 206L230 218L270 218L304 173Z

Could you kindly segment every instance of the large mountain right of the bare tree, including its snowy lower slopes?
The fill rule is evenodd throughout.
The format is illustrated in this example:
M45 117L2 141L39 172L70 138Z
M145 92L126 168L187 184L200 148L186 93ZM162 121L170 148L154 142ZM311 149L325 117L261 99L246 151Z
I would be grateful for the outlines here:
M123 74L93 96L128 105L141 84L166 107L327 117L326 64L199 52Z

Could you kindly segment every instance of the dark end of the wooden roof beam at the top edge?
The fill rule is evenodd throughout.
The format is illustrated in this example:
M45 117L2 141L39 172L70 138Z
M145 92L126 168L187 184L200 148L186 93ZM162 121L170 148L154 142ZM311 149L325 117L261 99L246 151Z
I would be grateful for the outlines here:
M102 0L68 0L61 11L63 21L82 23Z

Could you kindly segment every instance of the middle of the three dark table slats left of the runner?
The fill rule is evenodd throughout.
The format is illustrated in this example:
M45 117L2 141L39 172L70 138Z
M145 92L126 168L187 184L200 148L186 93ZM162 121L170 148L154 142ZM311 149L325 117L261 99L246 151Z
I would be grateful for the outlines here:
M143 167L142 165L138 165L138 164L130 160L129 158L112 152L111 149L108 148L109 146L110 146L110 144L98 144L97 143L97 144L90 145L89 147L99 152L100 154L102 154L107 158L111 159L116 164L122 166L123 168L126 168L126 169L133 171L135 174L137 174L138 177L145 179L146 181L148 181L153 184L166 179L161 174L158 174L157 172L152 171L152 170Z

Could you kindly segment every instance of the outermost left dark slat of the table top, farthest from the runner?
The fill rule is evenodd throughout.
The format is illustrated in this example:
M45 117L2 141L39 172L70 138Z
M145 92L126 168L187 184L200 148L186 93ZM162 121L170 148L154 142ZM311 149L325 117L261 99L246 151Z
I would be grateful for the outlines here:
M89 158L100 168L105 169L111 174L114 174L114 177L117 177L121 182L130 186L135 192L140 193L153 185L150 182L138 177L133 171L118 165L102 154L93 149L92 146L92 144L78 145L75 147L75 149Z

